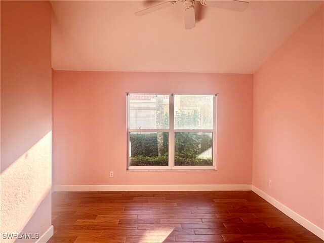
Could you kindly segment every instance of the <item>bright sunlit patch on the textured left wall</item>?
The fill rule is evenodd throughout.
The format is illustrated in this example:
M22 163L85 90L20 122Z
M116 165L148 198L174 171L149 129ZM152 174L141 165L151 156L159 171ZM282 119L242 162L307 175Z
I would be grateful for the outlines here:
M14 242L15 239L3 239L3 234L20 233L39 204L51 193L51 160L52 131L1 172L1 242Z

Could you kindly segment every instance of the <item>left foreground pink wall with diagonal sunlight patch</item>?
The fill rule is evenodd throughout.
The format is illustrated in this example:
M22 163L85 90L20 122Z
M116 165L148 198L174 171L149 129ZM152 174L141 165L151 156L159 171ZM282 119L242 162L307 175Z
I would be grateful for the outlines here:
M51 226L51 103L50 4L1 1L1 237Z

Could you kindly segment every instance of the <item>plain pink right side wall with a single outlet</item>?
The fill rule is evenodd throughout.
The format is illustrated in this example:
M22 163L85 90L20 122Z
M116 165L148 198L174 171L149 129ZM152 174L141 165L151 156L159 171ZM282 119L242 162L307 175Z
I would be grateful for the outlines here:
M322 229L323 29L321 6L256 71L253 110L253 185Z

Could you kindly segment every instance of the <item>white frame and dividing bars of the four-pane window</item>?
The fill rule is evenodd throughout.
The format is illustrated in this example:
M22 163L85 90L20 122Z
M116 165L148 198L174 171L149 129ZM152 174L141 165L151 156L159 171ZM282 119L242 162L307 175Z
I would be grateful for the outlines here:
M168 95L169 96L169 129L130 129L130 95ZM166 170L176 170L176 171L204 171L204 170L216 170L216 148L217 148L217 95L218 94L158 94L158 93L126 93L127 95L127 170L129 171L166 171ZM212 129L177 129L174 130L174 96L175 95L213 95L213 128ZM169 133L169 161L168 166L130 166L130 133L140 132L167 132ZM213 165L212 166L175 166L174 155L175 155L175 144L174 137L176 132L182 133L212 133L213 147Z

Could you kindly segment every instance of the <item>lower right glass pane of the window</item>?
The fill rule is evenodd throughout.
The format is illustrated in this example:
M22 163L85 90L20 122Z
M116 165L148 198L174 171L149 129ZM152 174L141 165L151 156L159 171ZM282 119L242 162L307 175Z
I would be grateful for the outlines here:
M175 166L212 165L212 133L175 133Z

